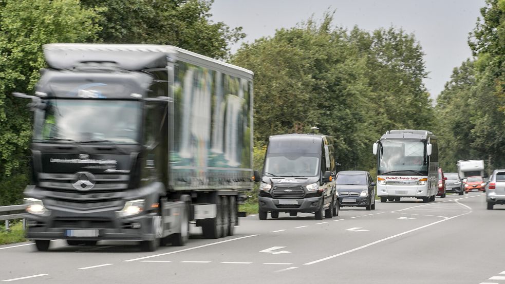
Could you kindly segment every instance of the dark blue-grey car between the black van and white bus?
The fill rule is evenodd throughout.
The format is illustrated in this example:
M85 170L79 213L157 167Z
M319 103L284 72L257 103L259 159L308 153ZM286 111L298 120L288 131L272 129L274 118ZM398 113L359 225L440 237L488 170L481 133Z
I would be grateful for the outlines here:
M339 206L365 207L375 209L375 185L366 171L341 171L336 174L336 191L339 193Z

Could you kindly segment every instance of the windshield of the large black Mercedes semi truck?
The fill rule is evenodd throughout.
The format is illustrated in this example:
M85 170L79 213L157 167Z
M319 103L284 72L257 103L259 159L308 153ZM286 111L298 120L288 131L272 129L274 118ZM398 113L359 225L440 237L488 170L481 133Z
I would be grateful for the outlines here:
M141 104L138 101L47 101L35 117L34 140L139 143Z

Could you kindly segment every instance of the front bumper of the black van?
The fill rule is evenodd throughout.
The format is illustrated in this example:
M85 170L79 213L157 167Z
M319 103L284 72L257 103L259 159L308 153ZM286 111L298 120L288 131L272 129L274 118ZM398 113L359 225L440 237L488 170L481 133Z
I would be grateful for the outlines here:
M323 199L321 197L307 197L303 199L289 199L297 204L279 204L282 199L260 196L258 198L259 210L263 212L302 212L312 213L321 208ZM281 201L282 203L282 201ZM294 202L293 202L294 203Z

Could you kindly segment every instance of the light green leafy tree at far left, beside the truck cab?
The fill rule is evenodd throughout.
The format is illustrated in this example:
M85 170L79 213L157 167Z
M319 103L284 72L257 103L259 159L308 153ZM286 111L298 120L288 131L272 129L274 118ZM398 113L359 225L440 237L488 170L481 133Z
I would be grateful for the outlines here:
M11 92L32 92L45 66L43 44L96 39L98 18L78 0L0 1L0 203L19 197L28 171L31 115ZM12 188L13 180L24 183Z

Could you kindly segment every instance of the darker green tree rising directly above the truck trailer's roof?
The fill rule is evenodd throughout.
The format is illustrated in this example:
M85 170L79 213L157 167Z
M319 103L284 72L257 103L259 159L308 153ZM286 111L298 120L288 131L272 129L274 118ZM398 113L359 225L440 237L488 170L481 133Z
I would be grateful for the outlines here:
M245 37L241 27L214 23L213 1L204 0L81 0L84 7L103 7L104 43L175 45L216 59L229 55L230 43Z

